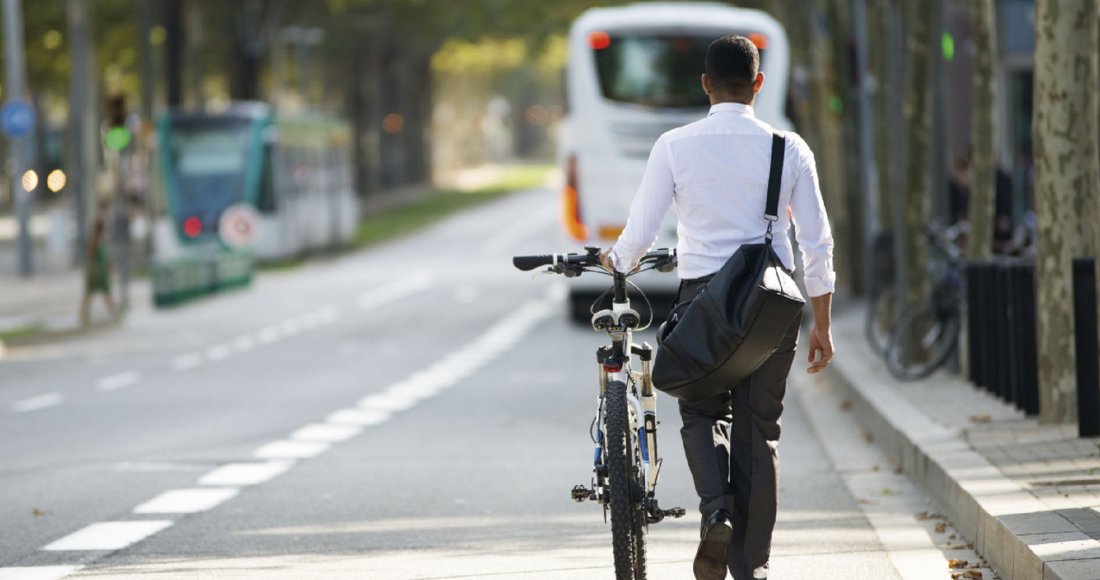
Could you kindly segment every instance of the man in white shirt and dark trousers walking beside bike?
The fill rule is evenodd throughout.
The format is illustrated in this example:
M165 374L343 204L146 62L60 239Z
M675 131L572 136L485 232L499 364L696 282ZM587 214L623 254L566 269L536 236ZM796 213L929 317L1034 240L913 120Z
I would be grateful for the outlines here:
M680 292L692 300L743 244L756 243L768 222L765 207L774 131L755 117L763 86L757 47L744 36L723 36L707 50L703 89L707 118L661 135L653 145L626 229L601 261L631 271L653 241L669 207L678 217ZM793 270L788 229L795 226L814 326L809 372L833 358L829 331L835 283L833 237L822 201L813 153L794 133L785 134L774 250ZM787 209L788 211L783 211ZM785 325L785 322L784 322ZM684 453L703 516L694 572L700 579L768 577L776 525L780 415L794 359L800 320L787 329L772 354L728 393L680 402Z

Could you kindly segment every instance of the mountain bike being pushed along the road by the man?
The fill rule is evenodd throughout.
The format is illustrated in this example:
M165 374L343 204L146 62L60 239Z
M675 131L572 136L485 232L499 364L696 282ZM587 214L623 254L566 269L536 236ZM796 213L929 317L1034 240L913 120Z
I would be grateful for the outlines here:
M585 272L613 277L612 307L592 315L592 328L607 332L610 344L596 350L600 396L590 430L595 447L591 488L575 485L570 496L576 502L594 501L610 513L612 551L617 580L645 580L646 534L649 524L666 517L682 517L684 508L662 510L657 502L661 460L657 455L657 393L650 375L653 349L636 344L632 336L641 330L641 316L630 307L627 278L640 272L671 272L675 250L647 253L639 270L630 274L608 272L600 264L600 249L585 248L584 254L515 256L513 265L525 272L541 266L546 272L576 277ZM645 295L644 295L645 296ZM598 304L598 300L597 300ZM652 316L650 316L652 322ZM649 325L646 325L647 327ZM637 357L641 371L631 369Z

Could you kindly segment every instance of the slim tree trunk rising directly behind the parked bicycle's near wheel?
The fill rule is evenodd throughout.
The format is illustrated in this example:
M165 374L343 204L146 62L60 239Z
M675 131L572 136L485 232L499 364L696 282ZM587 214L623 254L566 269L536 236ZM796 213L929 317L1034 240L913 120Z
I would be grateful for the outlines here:
M904 230L901 241L905 253L905 296L910 305L927 295L927 252L924 227L928 222L928 139L932 119L928 110L928 22L932 20L932 0L911 0L909 21L909 87L905 91L905 127L909 129L905 147Z

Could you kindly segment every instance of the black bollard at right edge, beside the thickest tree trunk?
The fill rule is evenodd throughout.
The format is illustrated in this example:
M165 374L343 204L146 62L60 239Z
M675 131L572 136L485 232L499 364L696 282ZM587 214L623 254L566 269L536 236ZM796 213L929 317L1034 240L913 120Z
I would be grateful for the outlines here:
M1097 329L1096 261L1074 260L1074 327L1077 346L1077 434L1100 436L1100 337Z

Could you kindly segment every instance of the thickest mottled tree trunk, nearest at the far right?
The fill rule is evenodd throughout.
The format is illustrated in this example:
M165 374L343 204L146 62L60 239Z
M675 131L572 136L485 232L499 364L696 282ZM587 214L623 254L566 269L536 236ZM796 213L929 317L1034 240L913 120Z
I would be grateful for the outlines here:
M1042 423L1071 423L1077 416L1071 261L1094 256L1097 250L1096 26L1096 0L1036 2L1033 127Z

